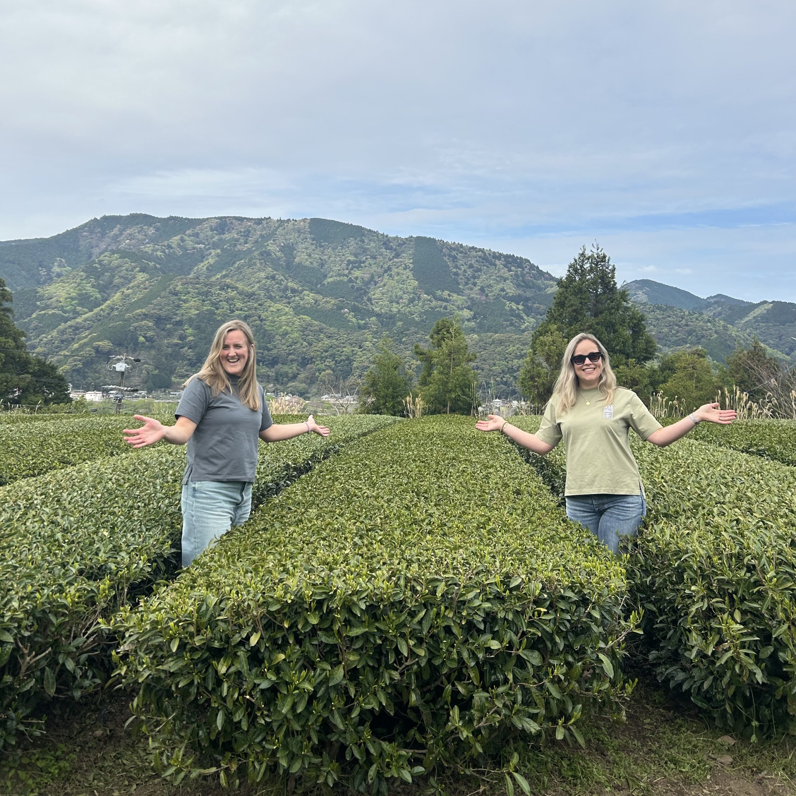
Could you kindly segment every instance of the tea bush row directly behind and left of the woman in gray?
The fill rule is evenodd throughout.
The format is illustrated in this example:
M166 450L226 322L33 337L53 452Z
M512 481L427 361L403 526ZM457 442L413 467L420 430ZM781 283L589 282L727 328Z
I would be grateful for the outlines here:
M392 422L330 419L329 439L261 443L254 502ZM185 448L166 445L0 488L0 747L41 700L103 681L103 620L176 568L184 467Z

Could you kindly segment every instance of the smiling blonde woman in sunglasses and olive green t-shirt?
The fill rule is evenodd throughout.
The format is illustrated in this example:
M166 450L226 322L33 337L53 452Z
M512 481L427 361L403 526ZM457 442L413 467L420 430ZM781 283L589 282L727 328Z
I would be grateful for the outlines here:
M567 516L618 553L620 537L635 536L646 515L638 464L627 439L630 428L647 442L665 447L703 420L727 425L735 418L732 409L704 404L679 422L661 427L635 392L616 386L603 344L594 335L578 334L564 352L536 434L495 415L479 420L476 427L502 431L540 456L564 439Z

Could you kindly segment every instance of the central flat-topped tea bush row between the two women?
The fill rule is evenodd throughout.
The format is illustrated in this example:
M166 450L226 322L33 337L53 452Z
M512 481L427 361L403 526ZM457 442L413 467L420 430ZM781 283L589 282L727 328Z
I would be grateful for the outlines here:
M177 780L385 793L620 710L625 590L504 440L428 418L319 465L124 611L119 674Z

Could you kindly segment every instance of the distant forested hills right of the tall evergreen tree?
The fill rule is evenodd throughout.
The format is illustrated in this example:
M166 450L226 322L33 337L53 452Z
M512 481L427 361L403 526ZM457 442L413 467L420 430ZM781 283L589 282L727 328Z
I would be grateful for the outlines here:
M647 326L663 349L700 345L719 362L754 338L776 356L796 355L796 304L783 301L747 302L717 293L700 298L679 287L652 279L622 285L642 308Z

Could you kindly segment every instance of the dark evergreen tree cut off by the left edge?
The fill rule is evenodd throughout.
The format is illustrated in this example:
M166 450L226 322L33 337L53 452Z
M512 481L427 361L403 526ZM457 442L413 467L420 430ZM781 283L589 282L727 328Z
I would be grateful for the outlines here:
M11 291L0 279L0 402L68 403L66 381L55 365L25 349L25 332L14 324L11 302Z

